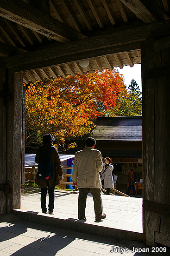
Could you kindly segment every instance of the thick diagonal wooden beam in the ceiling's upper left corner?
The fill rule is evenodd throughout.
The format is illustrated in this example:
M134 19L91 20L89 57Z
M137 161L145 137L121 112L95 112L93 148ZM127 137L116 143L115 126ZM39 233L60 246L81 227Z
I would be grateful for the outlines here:
M60 42L86 38L82 33L22 0L0 0L0 16Z

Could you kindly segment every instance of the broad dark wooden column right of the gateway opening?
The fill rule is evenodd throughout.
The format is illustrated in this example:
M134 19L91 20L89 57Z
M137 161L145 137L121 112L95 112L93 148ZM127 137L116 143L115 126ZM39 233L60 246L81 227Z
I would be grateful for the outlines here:
M170 246L170 40L142 42L143 229L146 244Z

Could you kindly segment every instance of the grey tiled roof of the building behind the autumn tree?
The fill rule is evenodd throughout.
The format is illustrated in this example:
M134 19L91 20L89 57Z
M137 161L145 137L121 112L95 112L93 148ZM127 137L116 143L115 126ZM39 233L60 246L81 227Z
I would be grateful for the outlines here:
M142 141L142 116L98 117L90 134L74 140L94 137L97 141Z

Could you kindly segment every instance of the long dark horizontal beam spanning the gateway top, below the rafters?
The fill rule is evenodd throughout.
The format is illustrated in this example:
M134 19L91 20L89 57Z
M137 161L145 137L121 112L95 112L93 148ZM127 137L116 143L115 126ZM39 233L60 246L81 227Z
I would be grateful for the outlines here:
M163 37L170 34L170 20L148 24L69 42L47 46L17 57L0 59L0 67L15 67L15 72L52 67L64 63L94 59L103 55L120 54L140 50L141 41L151 36Z

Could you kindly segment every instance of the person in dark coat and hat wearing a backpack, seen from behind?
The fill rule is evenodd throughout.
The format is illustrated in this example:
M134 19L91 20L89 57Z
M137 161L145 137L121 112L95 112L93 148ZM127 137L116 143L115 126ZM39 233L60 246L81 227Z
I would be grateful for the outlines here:
M50 215L54 209L54 189L63 180L63 169L58 155L57 148L52 146L55 139L51 134L43 136L43 144L37 150L35 162L38 163L38 172L35 183L41 187L41 209L47 213L46 196L49 194L48 210Z

